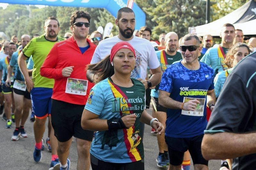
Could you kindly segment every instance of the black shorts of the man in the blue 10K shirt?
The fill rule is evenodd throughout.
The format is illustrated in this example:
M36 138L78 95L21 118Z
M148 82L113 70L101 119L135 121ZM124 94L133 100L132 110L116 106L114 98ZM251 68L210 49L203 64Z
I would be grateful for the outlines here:
M172 138L165 136L165 142L168 145L170 164L173 166L181 165L184 152L188 150L194 165L202 164L208 166L208 160L204 159L201 151L203 137L204 134L192 138Z

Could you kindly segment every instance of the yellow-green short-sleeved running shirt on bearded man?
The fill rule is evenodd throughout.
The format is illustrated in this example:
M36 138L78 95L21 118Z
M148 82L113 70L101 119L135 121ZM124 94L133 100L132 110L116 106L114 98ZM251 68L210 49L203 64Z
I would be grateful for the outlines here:
M49 41L45 38L45 35L41 35L33 38L22 50L26 57L29 58L32 55L34 61L32 72L32 81L34 82L34 87L53 88L54 80L42 77L40 75L40 68L53 45L62 40L64 40L64 38L57 37L56 41Z

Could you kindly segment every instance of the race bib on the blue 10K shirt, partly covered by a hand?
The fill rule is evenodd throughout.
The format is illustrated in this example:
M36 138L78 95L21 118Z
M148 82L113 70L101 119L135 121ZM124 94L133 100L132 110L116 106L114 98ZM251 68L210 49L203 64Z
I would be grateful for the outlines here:
M204 116L204 103L205 103L205 98L191 98L191 97L184 97L183 102L188 102L189 100L198 100L200 103L197 104L195 111L185 111L182 110L181 114L182 115L188 115L188 116Z

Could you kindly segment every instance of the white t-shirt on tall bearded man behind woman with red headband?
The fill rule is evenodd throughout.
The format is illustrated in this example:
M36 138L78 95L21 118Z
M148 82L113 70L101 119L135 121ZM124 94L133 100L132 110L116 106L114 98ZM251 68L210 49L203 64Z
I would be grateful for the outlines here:
M121 41L123 40L119 39L117 36L100 41L92 56L91 64L95 64L103 60L110 54L111 48ZM133 36L131 40L126 42L132 45L136 54L135 68L132 70L131 77L145 80L148 67L150 69L156 69L160 66L155 49L151 45L150 41L136 36Z

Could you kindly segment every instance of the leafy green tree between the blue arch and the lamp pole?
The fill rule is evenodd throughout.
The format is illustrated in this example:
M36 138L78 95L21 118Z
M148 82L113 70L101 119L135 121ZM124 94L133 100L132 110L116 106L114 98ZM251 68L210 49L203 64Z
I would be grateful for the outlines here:
M188 33L188 27L205 23L205 1L201 0L154 0L155 5L143 8L153 16L157 25L153 28L153 38L161 33L176 32L179 37Z

